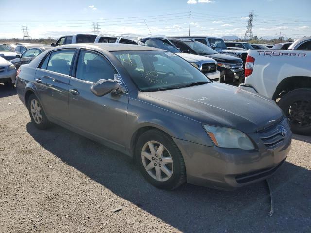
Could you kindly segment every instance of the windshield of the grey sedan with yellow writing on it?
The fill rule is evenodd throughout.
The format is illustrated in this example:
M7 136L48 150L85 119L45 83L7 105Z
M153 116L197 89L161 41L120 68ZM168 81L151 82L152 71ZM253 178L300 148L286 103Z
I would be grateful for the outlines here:
M166 51L112 52L140 91L177 89L211 81L197 68Z

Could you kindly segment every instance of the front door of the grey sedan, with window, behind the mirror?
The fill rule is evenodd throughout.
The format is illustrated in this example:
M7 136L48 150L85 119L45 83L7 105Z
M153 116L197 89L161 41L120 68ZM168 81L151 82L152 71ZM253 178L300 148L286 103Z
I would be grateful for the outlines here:
M94 95L90 87L100 79L114 79L117 71L103 55L80 50L75 77L70 79L70 123L80 131L90 133L104 141L124 145L122 130L128 106L128 93L112 92Z

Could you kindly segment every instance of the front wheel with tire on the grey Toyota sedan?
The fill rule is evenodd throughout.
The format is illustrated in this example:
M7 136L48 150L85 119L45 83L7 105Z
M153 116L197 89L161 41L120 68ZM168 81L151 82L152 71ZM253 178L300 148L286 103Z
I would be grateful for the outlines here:
M152 148L155 152L151 151ZM166 133L153 129L141 134L135 147L135 156L141 174L155 187L172 190L185 183L184 159L173 139Z

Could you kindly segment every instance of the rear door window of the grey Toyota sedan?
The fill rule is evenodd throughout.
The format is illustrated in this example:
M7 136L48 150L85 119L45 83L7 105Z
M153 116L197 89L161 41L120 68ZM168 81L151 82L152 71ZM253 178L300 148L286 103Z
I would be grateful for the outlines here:
M52 52L47 64L47 70L69 75L74 52L75 50L60 50ZM44 62L42 67L43 65Z

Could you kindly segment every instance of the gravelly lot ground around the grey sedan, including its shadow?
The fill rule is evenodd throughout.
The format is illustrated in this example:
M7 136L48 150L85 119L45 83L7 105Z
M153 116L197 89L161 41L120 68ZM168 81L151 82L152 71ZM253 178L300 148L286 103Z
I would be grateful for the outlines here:
M115 150L53 126L37 130L0 85L0 232L311 232L311 137L294 135L269 181L233 192L146 183ZM122 207L119 212L112 209Z

